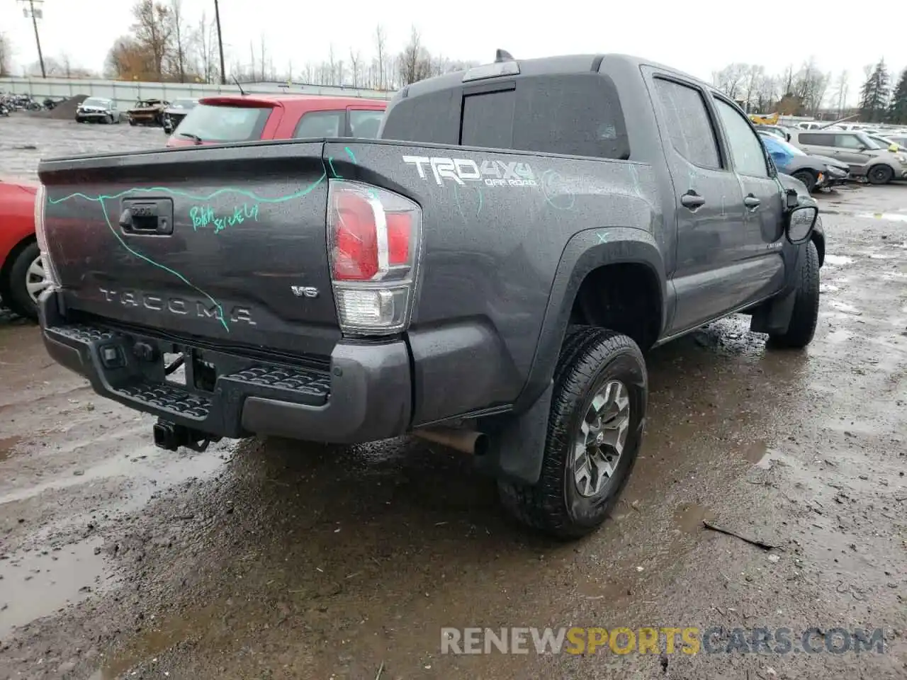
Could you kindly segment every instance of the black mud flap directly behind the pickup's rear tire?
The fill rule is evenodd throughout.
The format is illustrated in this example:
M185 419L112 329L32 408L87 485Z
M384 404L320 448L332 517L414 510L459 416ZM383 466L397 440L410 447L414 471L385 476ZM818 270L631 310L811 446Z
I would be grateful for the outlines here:
M488 451L475 459L480 471L502 481L530 485L539 481L553 389L551 382L528 411L504 416L488 429Z

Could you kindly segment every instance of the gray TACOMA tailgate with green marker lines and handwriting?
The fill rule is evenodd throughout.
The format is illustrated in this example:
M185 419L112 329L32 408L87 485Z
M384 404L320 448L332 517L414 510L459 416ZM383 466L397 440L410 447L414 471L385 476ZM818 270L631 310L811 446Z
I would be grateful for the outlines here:
M322 148L312 141L267 153L249 145L43 161L47 248L67 310L329 355L340 332Z

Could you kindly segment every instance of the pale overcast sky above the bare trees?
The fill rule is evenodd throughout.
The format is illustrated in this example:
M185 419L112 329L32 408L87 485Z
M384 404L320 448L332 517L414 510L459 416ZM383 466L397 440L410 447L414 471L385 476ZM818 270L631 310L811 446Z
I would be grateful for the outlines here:
M26 0L27 1L27 0ZM169 2L169 0L165 0ZM214 0L182 0L195 23L202 11L213 15ZM113 40L129 32L131 0L44 0L39 21L45 56L67 53L73 65L100 71ZM861 30L854 8L824 11L819 3L795 5L739 0L611 0L610 2L479 2L440 0L385 2L298 2L297 0L220 0L228 63L249 63L249 40L264 35L275 69L292 60L298 72L307 61L321 61L328 46L338 56L350 47L374 50L375 24L385 26L393 52L405 44L415 24L432 53L454 59L493 60L502 47L515 57L557 53L619 52L648 57L711 80L727 63L761 63L781 73L814 56L824 71L851 73L850 97L863 82L863 66L884 58L892 79L907 66L907 14L904 0L865 5ZM21 0L0 0L0 31L12 40L15 63L37 59L31 21ZM853 21L847 17L853 18ZM896 17L894 19L883 17ZM885 25L891 25L886 34ZM77 30L78 29L78 30ZM770 45L774 45L770 47Z

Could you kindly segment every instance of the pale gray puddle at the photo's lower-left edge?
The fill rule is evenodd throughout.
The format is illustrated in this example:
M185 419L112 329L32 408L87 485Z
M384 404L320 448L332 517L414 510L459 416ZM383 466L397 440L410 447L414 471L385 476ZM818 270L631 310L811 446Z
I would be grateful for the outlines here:
M0 638L8 636L14 627L89 597L104 574L103 556L95 554L102 542L98 537L50 550L46 555L32 551L0 561L4 582Z

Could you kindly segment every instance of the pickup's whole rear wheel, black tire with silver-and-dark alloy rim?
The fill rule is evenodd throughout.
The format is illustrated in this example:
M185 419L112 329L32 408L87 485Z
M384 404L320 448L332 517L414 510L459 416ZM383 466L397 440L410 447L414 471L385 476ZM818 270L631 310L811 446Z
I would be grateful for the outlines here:
M648 390L632 339L605 328L571 328L554 371L541 476L532 486L499 482L504 507L558 539L597 529L636 462Z

